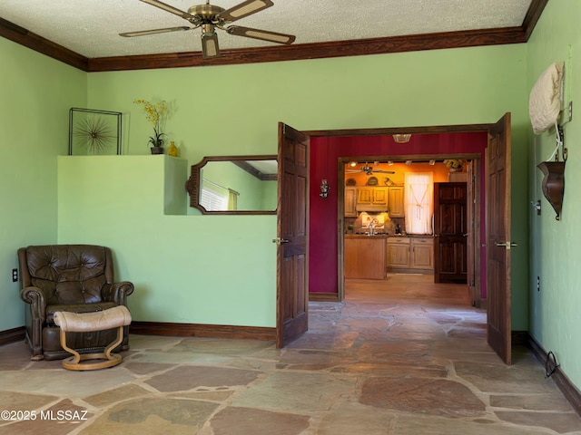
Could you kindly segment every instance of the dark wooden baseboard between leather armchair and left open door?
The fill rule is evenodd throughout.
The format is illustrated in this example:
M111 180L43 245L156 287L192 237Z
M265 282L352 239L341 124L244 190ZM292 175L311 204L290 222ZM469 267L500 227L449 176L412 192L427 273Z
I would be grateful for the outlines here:
M276 341L276 328L232 326L224 324L172 324L165 322L132 322L129 333L176 337L232 338Z

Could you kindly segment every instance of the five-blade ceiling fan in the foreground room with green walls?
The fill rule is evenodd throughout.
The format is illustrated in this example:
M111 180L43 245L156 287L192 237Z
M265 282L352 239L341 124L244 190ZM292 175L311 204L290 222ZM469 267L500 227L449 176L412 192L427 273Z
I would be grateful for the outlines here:
M202 57L204 59L211 59L212 57L220 56L220 47L218 46L218 35L215 29L221 29L228 34L235 36L245 36L247 38L261 39L262 41L269 41L271 43L285 43L290 44L295 40L295 36L291 34L279 34L277 32L270 32L267 30L251 29L250 27L242 27L240 25L229 25L236 20L240 20L245 16L260 12L262 9L274 5L271 0L246 0L240 5L232 6L230 9L223 9L220 6L210 5L210 0L206 0L205 5L194 5L188 9L188 12L183 12L171 5L166 5L158 0L141 0L143 3L159 7L166 12L181 16L184 20L193 24L193 27L166 27L163 29L142 30L139 32L126 32L120 36L132 37L143 36L146 34L163 34L166 32L179 32L182 30L192 30L202 27Z

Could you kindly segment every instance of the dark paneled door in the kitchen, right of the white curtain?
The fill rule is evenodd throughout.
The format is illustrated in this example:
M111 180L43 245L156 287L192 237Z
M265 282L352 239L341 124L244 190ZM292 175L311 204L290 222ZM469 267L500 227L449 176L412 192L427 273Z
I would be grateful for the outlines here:
M434 282L467 282L467 183L434 183Z

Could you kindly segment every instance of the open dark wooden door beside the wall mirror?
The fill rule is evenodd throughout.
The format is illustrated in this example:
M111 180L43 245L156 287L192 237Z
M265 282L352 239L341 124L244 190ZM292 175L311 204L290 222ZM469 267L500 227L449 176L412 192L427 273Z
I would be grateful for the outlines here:
M309 328L308 135L279 122L276 345Z

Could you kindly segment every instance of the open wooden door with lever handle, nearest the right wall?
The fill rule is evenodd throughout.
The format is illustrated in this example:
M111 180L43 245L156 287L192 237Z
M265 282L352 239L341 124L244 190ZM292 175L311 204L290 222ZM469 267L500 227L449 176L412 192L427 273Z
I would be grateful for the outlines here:
M510 364L510 113L488 131L486 166L487 341Z

